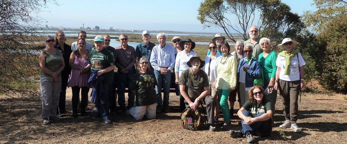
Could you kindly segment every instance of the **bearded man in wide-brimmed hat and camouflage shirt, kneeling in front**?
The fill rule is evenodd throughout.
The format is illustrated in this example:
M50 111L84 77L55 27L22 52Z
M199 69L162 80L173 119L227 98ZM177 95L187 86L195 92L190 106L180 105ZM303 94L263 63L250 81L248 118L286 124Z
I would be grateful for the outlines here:
M193 111L197 111L199 103L205 104L207 108L207 124L210 131L216 131L214 123L214 107L216 102L213 97L208 95L210 92L210 84L207 74L201 70L205 65L205 61L199 56L193 56L187 62L190 67L184 70L179 79L179 88L181 95L184 97L186 107L191 107Z

